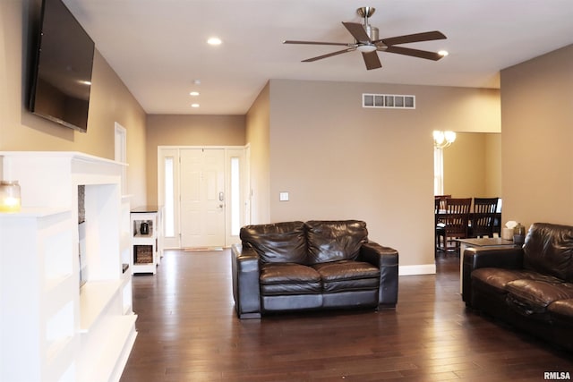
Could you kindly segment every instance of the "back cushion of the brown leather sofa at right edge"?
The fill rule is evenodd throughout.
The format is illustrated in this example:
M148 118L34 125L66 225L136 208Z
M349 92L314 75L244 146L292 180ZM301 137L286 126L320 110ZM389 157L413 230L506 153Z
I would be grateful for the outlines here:
M527 269L573 282L573 226L535 223L523 250Z

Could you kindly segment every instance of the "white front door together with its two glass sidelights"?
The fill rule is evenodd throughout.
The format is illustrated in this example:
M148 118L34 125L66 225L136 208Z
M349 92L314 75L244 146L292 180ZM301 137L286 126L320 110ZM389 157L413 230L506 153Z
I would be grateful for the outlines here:
M228 247L247 224L244 147L159 147L165 248Z

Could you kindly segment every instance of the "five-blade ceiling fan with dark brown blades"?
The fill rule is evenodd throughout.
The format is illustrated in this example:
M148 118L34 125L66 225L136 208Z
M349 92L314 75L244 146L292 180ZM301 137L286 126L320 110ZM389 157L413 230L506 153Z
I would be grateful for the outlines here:
M368 18L374 14L374 11L376 11L376 8L372 8L371 6L363 6L362 8L358 8L356 10L356 13L358 13L360 17L363 17L363 24L358 22L342 21L342 24L346 27L346 30L348 30L350 34L355 38L355 42L353 43L285 40L283 41L283 44L336 45L346 47L342 50L338 50L326 55L318 55L316 57L308 58L303 60L303 63L312 63L313 61L321 60L322 58L328 58L333 55L342 55L343 53L358 50L362 53L364 64L366 64L366 69L368 70L382 67L377 52L389 52L396 53L398 55L411 55L414 57L425 58L427 60L433 61L438 61L441 57L443 57L443 55L440 53L429 52L427 50L413 49L410 47L397 47L401 44L446 38L446 36L444 36L444 34L438 30L415 33L406 36L398 36L394 38L379 39L378 28L372 27L372 25L368 23Z

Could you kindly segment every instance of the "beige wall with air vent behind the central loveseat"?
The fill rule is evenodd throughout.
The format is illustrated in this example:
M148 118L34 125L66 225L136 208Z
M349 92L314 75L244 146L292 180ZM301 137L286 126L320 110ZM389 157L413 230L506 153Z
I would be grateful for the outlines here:
M413 94L416 108L363 108L364 92ZM400 252L401 266L429 271L433 130L500 132L499 92L270 81L270 221L363 219L372 240ZM290 201L278 201L279 191Z

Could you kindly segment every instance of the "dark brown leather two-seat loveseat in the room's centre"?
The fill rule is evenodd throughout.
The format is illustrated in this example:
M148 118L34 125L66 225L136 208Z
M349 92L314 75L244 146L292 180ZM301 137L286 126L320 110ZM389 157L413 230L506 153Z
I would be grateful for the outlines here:
M363 221L247 225L240 237L231 260L239 318L396 306L398 251L370 242Z

